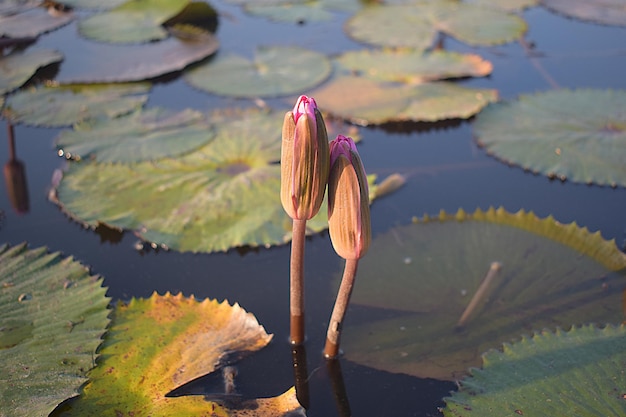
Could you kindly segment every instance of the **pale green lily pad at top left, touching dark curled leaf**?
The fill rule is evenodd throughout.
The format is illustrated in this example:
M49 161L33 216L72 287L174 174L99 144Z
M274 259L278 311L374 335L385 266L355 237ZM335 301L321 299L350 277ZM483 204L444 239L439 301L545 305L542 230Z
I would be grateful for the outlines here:
M112 43L137 43L165 39L162 27L180 13L189 1L131 0L106 12L97 13L78 22L80 34L86 38Z

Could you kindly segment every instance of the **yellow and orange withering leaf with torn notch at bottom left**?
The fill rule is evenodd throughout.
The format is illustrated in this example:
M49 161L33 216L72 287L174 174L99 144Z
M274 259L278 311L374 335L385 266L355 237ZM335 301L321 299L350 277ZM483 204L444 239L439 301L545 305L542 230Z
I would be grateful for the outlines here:
M274 398L225 404L202 396L166 397L191 380L266 346L272 336L239 305L181 294L153 294L118 304L80 397L61 416L282 416L303 415L293 389Z

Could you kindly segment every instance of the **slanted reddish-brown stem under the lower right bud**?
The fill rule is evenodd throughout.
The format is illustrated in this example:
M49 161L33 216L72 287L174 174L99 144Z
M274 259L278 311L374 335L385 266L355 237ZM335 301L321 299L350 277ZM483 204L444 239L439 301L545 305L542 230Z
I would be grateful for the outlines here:
M328 324L328 333L326 334L324 356L329 359L336 358L339 354L341 327L343 325L343 319L346 315L348 303L350 303L350 295L352 295L354 277L356 276L358 263L358 259L346 259L346 266L343 270L339 293L337 294L337 299L335 300L335 307L333 307L333 313L330 316L330 323Z

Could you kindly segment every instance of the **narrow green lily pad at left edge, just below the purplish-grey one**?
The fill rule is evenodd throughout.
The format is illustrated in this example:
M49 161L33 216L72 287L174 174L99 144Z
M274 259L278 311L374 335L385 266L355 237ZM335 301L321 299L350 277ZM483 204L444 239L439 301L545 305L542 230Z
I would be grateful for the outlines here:
M7 99L4 116L13 123L70 126L104 115L118 117L141 108L150 84L48 85L19 91Z

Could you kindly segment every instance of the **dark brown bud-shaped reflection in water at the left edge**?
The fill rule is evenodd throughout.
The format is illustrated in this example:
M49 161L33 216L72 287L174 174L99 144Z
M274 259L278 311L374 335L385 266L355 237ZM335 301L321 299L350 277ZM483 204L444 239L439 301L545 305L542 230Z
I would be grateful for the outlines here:
M13 210L15 210L17 214L26 214L30 208L26 167L22 161L17 159L15 131L13 125L9 122L7 122L7 135L9 142L9 160L4 164L3 170L7 195Z

